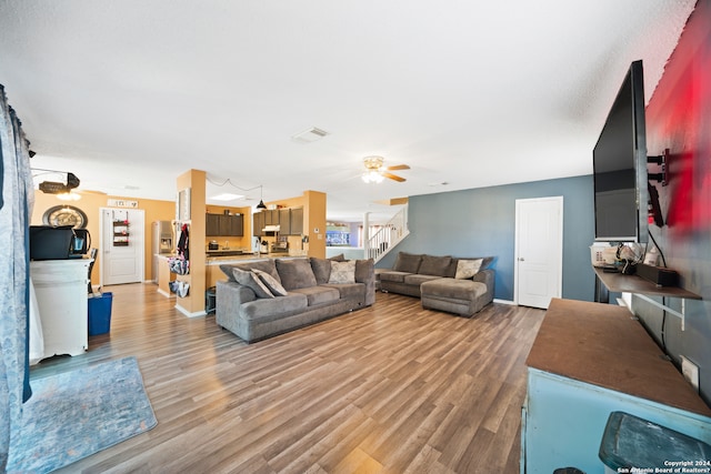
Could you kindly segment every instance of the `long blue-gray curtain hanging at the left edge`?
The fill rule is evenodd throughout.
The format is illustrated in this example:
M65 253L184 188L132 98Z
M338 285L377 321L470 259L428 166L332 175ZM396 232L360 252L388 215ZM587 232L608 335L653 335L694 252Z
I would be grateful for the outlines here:
M34 203L28 142L0 84L0 472L29 385L29 225Z

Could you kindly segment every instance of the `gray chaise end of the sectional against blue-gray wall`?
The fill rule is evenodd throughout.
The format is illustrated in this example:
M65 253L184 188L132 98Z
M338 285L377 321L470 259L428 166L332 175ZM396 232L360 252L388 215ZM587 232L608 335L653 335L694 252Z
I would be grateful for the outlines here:
M472 280L438 279L423 282L422 307L471 317L491 300L487 285Z

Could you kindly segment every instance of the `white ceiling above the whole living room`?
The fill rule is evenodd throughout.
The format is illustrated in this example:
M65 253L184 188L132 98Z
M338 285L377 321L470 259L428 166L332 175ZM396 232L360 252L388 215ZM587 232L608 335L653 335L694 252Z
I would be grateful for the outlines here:
M32 165L80 189L173 200L192 168L264 201L322 191L329 220L360 221L375 200L590 174L630 62L649 100L693 6L3 0L0 84ZM330 134L291 139L311 127ZM363 183L370 154L408 181Z

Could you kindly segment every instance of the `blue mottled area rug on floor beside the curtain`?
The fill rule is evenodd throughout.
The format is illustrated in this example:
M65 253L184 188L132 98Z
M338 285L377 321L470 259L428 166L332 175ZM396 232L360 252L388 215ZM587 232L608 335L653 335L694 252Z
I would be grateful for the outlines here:
M136 357L31 381L8 473L48 473L158 424Z

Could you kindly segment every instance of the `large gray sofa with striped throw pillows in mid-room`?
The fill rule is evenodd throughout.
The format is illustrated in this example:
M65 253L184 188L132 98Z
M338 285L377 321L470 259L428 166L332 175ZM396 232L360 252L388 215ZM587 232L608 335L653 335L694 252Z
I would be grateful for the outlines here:
M216 322L254 342L375 302L373 261L268 259L220 265Z

